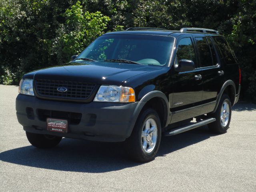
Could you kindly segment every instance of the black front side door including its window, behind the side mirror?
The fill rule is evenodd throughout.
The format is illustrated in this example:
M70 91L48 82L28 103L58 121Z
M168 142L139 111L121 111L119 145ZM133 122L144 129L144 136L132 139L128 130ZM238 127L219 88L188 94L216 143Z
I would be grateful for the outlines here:
M201 71L197 70L197 58L194 42L191 35L181 35L176 42L174 62L179 63L182 59L192 60L195 70L176 72L172 65L173 98L171 106L171 123L186 120L201 113L202 102L202 78Z

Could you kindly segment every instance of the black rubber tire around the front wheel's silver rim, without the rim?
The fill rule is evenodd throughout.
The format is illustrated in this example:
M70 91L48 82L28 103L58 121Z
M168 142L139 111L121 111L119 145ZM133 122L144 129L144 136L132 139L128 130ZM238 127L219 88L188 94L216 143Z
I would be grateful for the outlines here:
M152 119L154 121L152 121ZM145 152L145 150L142 147L142 141L147 138L146 136L142 138L142 130L143 128L145 129L144 125L147 120L151 122L155 122L157 126L156 127L157 130L155 130L154 132L152 131L151 136L149 136L150 130L148 130L149 132L147 134L148 138L150 137L152 138L152 141L153 141L153 137L156 136L156 140L155 142L153 142L155 143L155 145L154 147L152 147L151 152ZM156 135L156 132L157 132L157 135ZM155 158L156 153L158 152L158 148L160 146L160 141L161 141L161 123L160 123L159 116L155 110L146 109L138 117L136 124L134 126L134 129L132 131L132 134L128 139L126 139L125 145L128 151L128 155L130 158L132 158L132 160L137 162L149 162ZM146 148L147 146L148 148L150 148L149 145L146 145Z

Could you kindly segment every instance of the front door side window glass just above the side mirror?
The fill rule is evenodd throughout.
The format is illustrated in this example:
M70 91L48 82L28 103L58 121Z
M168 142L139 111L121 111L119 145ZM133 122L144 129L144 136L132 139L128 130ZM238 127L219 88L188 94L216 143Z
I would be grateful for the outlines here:
M191 38L183 38L178 44L178 50L175 58L175 62L179 63L180 60L187 59L192 60L196 64L196 54Z

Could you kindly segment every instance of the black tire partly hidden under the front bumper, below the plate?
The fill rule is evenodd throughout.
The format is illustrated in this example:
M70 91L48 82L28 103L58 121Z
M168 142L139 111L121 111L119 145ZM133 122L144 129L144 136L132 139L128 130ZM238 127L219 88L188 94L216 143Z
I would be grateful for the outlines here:
M52 148L59 144L62 137L52 136L52 135L44 135L44 134L36 134L26 132L26 136L30 144L37 148Z

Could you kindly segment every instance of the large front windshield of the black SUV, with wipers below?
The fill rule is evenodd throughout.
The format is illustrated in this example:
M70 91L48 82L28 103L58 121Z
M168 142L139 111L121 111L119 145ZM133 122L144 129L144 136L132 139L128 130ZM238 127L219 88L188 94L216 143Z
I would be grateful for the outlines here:
M101 62L166 65L174 38L157 35L103 35L90 44L77 58ZM80 60L79 60L80 58Z

